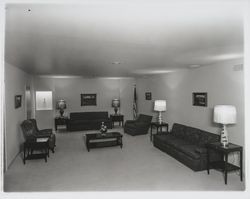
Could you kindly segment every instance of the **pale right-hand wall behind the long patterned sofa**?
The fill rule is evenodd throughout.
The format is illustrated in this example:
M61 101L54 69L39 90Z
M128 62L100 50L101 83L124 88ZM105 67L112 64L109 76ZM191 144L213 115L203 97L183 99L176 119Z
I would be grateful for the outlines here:
M244 146L244 74L234 71L243 60L220 62L197 69L137 79L139 112L156 115L153 101L167 100L163 118L170 126L174 122L219 133L213 123L213 107L231 104L237 109L237 124L228 127L229 141ZM152 101L145 100L145 92L152 92ZM208 106L192 106L193 92L207 92Z

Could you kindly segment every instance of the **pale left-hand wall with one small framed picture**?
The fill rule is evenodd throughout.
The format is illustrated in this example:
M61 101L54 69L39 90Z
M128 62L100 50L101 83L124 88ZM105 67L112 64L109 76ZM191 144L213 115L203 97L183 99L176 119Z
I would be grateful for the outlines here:
M5 63L5 111L6 111L6 158L7 165L20 151L23 134L20 124L26 119L25 88L31 85L31 77L22 70ZM22 106L15 109L15 95L22 95Z

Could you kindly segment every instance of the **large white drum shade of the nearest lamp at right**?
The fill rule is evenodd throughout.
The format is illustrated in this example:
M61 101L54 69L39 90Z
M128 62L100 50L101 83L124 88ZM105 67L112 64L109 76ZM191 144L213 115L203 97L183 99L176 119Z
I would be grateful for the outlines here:
M214 122L220 124L236 123L236 108L231 105L216 105L214 107Z

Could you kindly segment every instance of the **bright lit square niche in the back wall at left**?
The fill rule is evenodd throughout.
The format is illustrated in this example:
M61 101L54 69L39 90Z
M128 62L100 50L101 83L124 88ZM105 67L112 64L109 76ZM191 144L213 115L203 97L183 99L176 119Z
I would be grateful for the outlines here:
M36 91L36 110L53 110L52 91Z

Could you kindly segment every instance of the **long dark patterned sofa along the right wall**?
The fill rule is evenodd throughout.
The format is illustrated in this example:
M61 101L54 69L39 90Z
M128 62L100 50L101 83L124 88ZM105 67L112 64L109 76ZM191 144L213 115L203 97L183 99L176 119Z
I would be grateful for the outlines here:
M219 140L219 135L175 123L171 132L154 135L153 143L192 170L201 171L207 168L206 144ZM210 153L212 161L220 158L218 154Z

